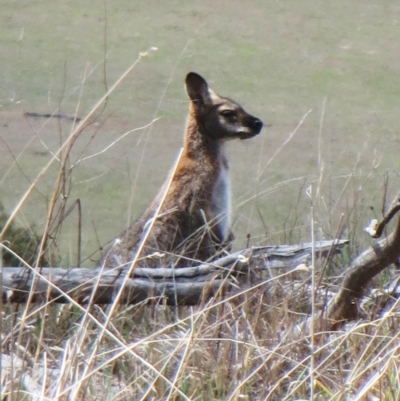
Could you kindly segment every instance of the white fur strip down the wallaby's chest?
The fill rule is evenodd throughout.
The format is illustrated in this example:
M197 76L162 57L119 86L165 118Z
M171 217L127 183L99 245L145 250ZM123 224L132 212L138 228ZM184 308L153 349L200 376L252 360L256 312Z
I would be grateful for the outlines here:
M221 159L219 175L215 181L212 191L212 213L213 224L216 225L215 232L220 236L220 240L227 239L230 227L231 214L231 191L229 181L229 167L225 159Z

